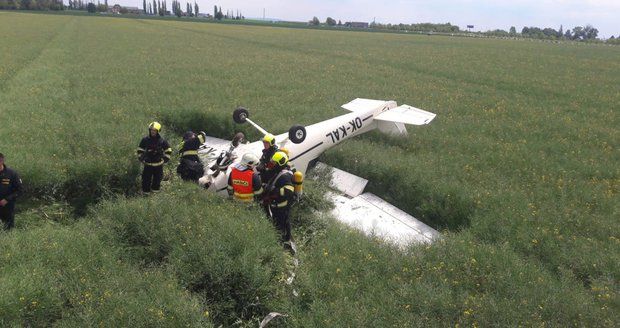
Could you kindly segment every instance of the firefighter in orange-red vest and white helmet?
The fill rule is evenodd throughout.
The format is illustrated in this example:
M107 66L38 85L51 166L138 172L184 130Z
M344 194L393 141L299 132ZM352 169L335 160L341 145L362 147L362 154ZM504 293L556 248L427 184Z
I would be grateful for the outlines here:
M258 161L258 156L247 153L239 164L233 166L228 176L228 195L243 202L260 200L263 187L258 173L254 171Z

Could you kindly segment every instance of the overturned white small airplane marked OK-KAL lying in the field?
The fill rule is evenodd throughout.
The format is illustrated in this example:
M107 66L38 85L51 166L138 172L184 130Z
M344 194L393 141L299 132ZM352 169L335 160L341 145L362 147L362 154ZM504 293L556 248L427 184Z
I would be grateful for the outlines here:
M288 133L275 136L278 147L288 150L289 161L304 175L306 175L308 168L317 162L318 157L323 152L344 140L374 129L390 135L406 135L405 124L425 125L435 118L434 113L408 105L397 106L395 101L357 98L342 105L342 108L351 113L307 127L293 125ZM249 111L245 108L237 108L233 112L233 120L238 124L249 123L259 132L268 133L250 119ZM199 150L199 156L206 168L205 175L199 180L201 186L209 191L227 195L227 174L231 170L231 164L238 162L246 153L254 153L258 157L262 154L262 141L244 144L241 143L242 139L242 134L235 135L232 142L207 137ZM337 218L338 216L345 217L345 220L341 221L350 221L351 216L361 215L362 212L359 210L361 208L364 210L363 216L370 218L371 221L370 225L368 221L361 224L362 227L357 224L358 228L367 232L370 231L372 234L387 234L388 239L390 236L393 237L391 238L393 240L398 239L394 240L397 244L404 245L411 241L432 242L438 237L437 231L377 196L368 195L369 193L362 195L367 180L337 169L333 172L333 187L351 197L351 201L356 203L354 206L347 204L346 199L348 198L343 195L334 194L332 196L336 206L334 215ZM362 205L359 204L360 202ZM366 204L366 209L364 209L363 204ZM387 221L392 223L389 224ZM352 224L351 222L347 223ZM386 226L389 227L385 228ZM407 230L415 232L408 233Z

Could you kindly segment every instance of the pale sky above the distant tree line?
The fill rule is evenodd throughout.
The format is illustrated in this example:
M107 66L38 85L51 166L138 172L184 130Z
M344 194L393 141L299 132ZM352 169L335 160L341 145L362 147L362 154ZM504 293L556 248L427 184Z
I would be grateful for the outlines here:
M142 0L116 0L120 5L142 8ZM185 2L180 0L181 8ZM108 0L108 3L117 3ZM152 2L152 0L151 0ZM168 6L172 0L168 0ZM245 17L309 21L316 16L336 21L377 23L451 23L474 31L508 30L515 26L551 27L564 30L590 24L599 38L620 35L620 0L196 0L200 12L239 10Z

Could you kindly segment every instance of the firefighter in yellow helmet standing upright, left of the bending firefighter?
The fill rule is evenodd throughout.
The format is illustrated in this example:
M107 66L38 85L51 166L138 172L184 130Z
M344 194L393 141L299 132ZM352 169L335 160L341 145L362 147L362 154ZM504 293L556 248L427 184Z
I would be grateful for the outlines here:
M172 155L172 148L159 134L160 132L161 124L157 122L149 124L149 135L142 138L136 151L138 159L144 164L142 192L145 194L159 191L164 177L164 163L170 161Z

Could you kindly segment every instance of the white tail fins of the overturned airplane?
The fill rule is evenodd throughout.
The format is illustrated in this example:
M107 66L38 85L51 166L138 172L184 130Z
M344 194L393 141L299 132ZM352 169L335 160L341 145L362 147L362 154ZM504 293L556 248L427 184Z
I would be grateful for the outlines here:
M409 105L396 106L396 102L393 100L385 101L357 98L342 105L342 108L352 112L384 108L385 111L376 114L374 117L374 120L377 121L377 128L383 133L395 135L407 134L405 124L428 124L436 116L434 113Z

